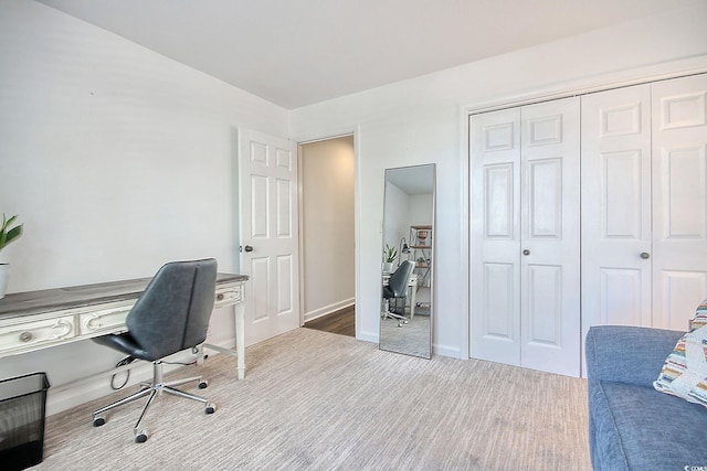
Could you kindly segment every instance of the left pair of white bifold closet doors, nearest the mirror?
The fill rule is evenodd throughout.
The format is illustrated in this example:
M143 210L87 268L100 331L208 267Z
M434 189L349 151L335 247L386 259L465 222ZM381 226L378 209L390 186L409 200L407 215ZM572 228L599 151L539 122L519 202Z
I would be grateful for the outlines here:
M579 99L469 118L471 356L579 375Z

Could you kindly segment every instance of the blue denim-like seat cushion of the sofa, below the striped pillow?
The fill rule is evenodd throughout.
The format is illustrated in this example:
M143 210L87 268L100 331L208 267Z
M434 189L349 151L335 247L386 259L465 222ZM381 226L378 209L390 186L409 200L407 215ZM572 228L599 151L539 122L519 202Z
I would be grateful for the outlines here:
M590 409L593 457L601 470L707 465L707 409L650 387L601 382Z

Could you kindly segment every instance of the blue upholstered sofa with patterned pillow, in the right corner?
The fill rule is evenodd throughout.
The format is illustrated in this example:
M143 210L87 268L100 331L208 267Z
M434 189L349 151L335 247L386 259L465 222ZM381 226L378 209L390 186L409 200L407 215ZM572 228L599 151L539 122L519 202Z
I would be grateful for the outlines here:
M684 332L601 325L587 334L594 470L707 470L707 407L654 389Z

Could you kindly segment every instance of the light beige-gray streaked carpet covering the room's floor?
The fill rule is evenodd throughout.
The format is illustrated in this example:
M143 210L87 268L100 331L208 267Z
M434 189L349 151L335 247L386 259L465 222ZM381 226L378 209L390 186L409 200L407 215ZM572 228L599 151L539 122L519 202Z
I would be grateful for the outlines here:
M134 390L46 420L40 470L590 470L583 379L475 360L422 360L297 329L214 355L199 390L219 406L162 395L135 443L141 402L91 413ZM197 366L169 376L191 375ZM169 379L168 376L168 379Z

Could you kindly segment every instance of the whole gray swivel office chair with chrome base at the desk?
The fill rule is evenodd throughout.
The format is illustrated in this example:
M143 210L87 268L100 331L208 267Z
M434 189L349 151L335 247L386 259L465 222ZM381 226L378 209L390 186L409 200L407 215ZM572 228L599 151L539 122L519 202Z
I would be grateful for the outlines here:
M199 388L204 388L205 381L191 377L165 383L161 360L187 349L197 349L205 341L213 310L215 283L217 260L212 258L166 264L128 313L128 331L94 339L95 342L126 353L133 358L152 362L151 383L143 383L139 392L94 411L94 427L106 422L103 416L105 411L149 395L134 428L135 441L146 441L147 430L141 428L140 424L152 400L161 393L203 403L205 414L215 411L215 405L208 399L172 387L199 381Z

